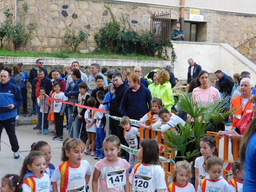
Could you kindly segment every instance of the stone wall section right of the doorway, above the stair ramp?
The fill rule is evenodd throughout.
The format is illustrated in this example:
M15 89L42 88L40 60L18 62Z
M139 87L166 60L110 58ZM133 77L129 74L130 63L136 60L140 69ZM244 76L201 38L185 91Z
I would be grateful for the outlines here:
M228 43L236 48L256 34L256 16L234 15L233 13L204 10L204 21L198 24L198 42ZM185 10L185 20L189 19L189 10ZM238 49L246 58L256 58L256 40L242 45Z

